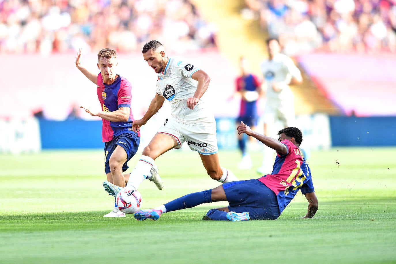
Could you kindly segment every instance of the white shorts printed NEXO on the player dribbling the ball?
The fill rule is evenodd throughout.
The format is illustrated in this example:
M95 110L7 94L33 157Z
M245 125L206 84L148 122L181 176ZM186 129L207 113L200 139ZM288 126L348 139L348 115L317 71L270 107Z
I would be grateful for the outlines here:
M187 141L191 150L196 150L203 155L215 154L218 150L216 122L207 123L205 126L187 125L171 116L166 119L157 133L174 137L179 142L175 148L181 148L181 145Z

